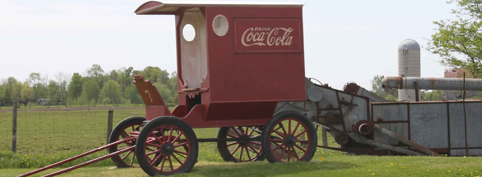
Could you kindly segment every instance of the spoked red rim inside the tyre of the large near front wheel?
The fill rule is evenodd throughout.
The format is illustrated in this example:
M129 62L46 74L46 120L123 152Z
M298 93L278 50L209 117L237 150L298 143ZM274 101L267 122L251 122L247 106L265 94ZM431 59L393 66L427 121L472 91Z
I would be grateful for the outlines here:
M167 131L158 131L161 129ZM171 146L173 152L164 154L164 147L168 144L173 145ZM144 155L148 164L160 173L174 173L182 169L190 158L190 152L189 137L183 129L176 125L157 126L149 132L149 137L144 143ZM158 164L156 165L156 163Z

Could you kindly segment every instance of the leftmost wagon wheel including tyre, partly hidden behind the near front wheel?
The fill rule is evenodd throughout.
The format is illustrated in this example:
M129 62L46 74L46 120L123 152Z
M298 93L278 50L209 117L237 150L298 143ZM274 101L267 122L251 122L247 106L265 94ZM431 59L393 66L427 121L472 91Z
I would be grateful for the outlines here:
M130 132L139 131L139 129L136 130L136 128L139 127L145 120L146 118L144 117L129 117L122 120L121 122L119 122L119 124L116 125L114 130L112 130L112 133L109 137L109 143L114 143L116 141L132 137L132 134L130 134ZM135 146L135 140L128 141L117 146L112 146L109 148L109 153L114 153L116 151L131 146ZM134 150L113 156L111 157L111 160L119 168L139 167L139 164L135 160Z

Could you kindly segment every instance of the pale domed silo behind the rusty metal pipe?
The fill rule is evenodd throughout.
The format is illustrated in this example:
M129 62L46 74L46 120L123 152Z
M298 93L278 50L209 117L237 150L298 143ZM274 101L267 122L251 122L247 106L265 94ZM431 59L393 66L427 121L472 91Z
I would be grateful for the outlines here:
M398 76L420 77L420 46L412 39L403 40L398 46ZM421 93L419 91L419 99ZM415 90L398 90L398 101L415 102Z

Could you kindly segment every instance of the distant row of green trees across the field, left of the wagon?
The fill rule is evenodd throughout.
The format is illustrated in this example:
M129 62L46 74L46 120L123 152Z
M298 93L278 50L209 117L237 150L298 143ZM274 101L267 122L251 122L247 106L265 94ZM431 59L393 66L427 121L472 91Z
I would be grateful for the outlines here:
M85 74L58 72L54 77L30 73L25 81L14 77L0 80L0 106L11 106L13 101L29 105L119 105L143 103L132 83L134 75L151 80L167 104L178 104L177 72L168 73L159 67L143 70L133 67L105 72L100 65L92 65Z

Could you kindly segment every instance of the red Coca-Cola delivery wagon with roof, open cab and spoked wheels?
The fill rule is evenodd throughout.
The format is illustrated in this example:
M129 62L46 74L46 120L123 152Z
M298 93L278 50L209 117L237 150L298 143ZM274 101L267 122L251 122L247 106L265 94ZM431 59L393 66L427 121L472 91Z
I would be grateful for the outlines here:
M169 111L150 81L134 78L146 121L129 122L145 122L129 134L138 135L134 153L145 172L189 171L199 142L218 142L226 161L313 157L313 123L301 113L277 111L280 103L306 100L301 4L151 1L135 13L176 17L179 105ZM189 38L183 31L191 26ZM192 128L205 127L220 127L218 137L196 138Z

